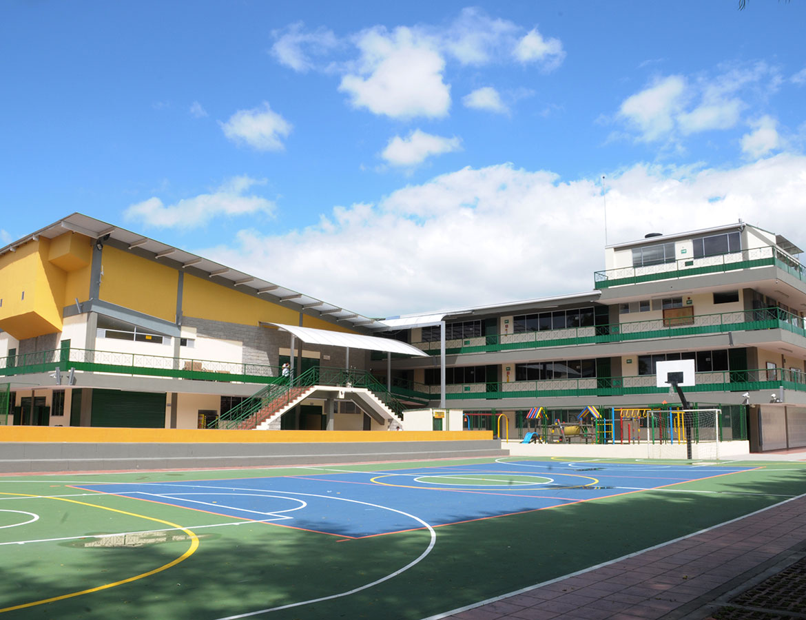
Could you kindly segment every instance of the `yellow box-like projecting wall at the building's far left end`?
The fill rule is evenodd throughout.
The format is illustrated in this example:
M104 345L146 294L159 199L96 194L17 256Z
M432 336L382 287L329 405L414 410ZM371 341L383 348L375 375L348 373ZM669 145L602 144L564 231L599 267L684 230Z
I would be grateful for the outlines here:
M16 339L61 331L66 273L48 261L49 250L40 238L0 256L0 329Z

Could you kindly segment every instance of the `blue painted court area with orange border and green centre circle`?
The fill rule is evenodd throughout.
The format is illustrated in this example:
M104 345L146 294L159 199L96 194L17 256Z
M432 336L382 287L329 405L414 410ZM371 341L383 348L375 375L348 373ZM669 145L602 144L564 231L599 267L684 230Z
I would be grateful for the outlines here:
M381 472L310 467L297 468L310 473L295 476L73 486L355 539L673 488L749 469L506 460Z

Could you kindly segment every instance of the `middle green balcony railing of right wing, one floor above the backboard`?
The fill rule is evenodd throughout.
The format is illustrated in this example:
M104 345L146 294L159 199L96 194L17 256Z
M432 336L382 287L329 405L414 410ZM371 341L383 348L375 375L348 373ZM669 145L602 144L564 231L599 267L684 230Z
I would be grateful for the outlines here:
M654 318L610 325L567 327L556 330L526 331L519 334L453 339L446 341L445 352L455 355L765 329L783 329L806 337L804 319L797 314L791 314L780 308L762 308L718 314L698 314L692 317ZM412 346L422 349L429 355L439 354L438 342L412 343Z

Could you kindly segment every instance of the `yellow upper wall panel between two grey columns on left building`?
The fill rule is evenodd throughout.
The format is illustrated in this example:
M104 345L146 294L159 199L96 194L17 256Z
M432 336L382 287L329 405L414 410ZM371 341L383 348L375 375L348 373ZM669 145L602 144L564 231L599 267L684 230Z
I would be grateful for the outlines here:
M179 273L154 260L106 246L102 255L100 298L153 317L177 317Z

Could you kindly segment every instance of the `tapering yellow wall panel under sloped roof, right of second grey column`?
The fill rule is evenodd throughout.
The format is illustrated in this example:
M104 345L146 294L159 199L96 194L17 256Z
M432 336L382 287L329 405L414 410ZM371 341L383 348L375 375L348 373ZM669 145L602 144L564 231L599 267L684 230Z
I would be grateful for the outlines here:
M182 289L182 314L242 325L256 326L261 321L299 324L297 310L189 274L185 274Z

